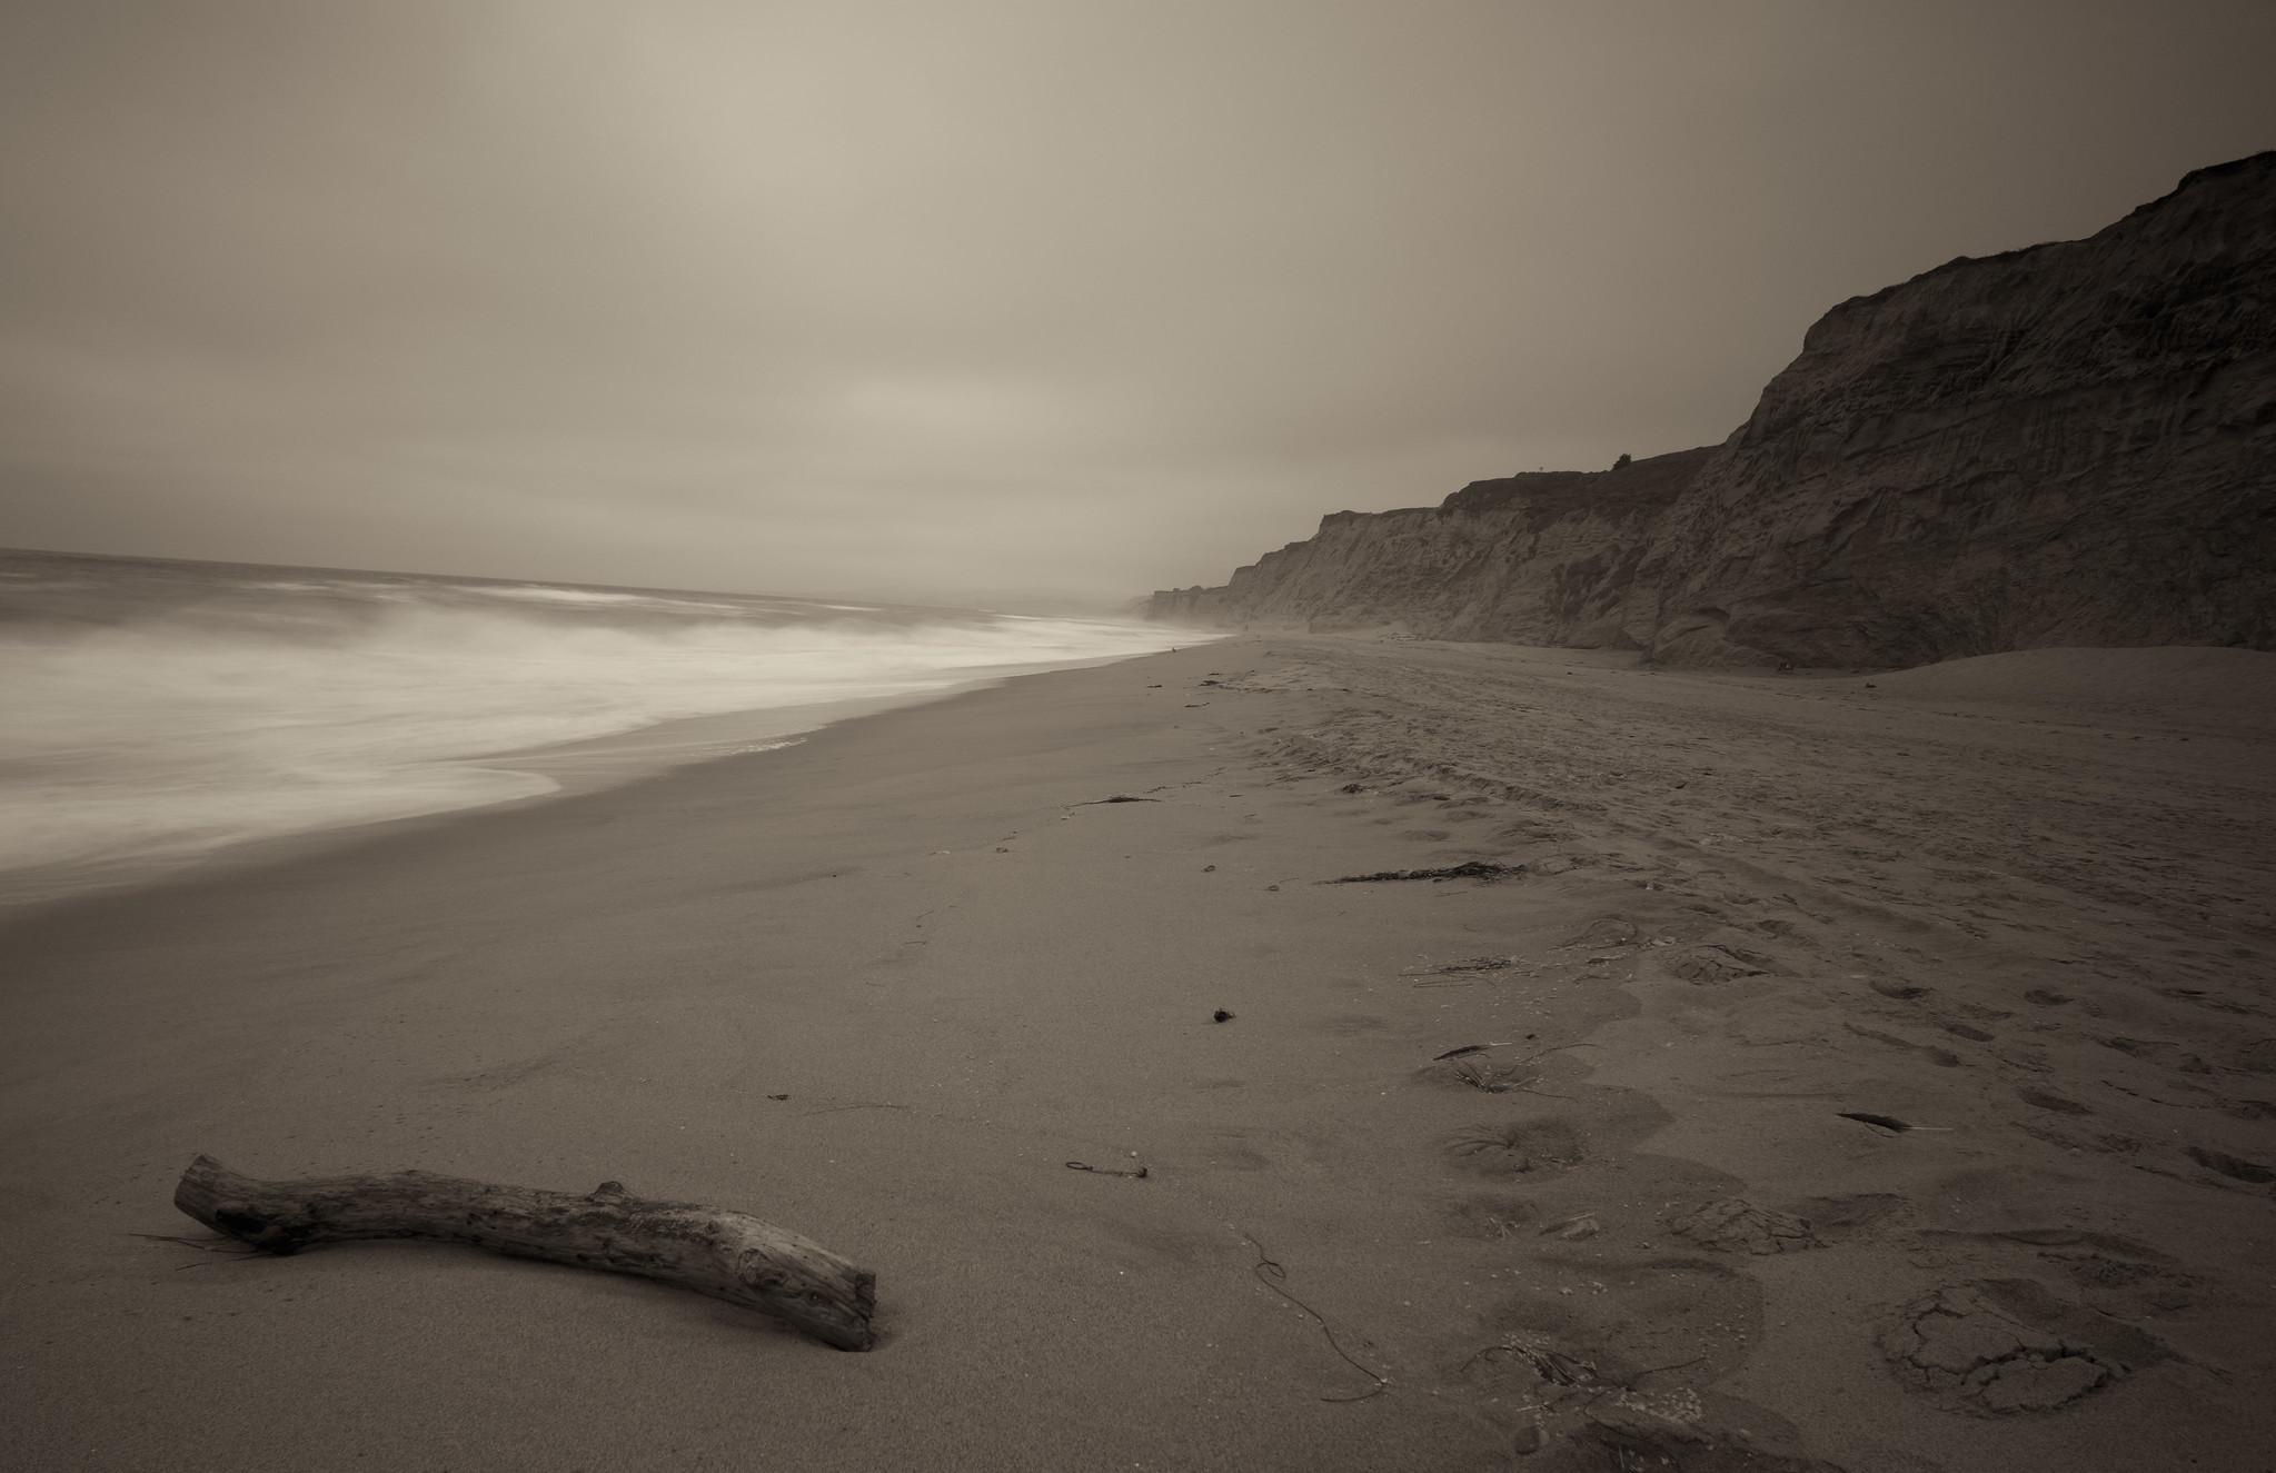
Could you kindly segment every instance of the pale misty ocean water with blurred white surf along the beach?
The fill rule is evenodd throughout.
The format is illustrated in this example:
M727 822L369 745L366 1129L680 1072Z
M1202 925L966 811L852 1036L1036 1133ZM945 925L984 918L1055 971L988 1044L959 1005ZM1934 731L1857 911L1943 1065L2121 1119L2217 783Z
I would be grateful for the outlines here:
M1168 649L1145 624L0 551L0 902ZM671 735L681 733L681 735ZM694 733L694 735L685 735Z

